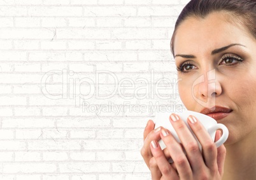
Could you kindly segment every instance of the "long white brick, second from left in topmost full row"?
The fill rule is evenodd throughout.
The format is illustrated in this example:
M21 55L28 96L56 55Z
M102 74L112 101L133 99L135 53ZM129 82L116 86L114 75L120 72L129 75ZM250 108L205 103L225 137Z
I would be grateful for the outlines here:
M31 6L27 11L29 16L82 16L82 7L75 6Z

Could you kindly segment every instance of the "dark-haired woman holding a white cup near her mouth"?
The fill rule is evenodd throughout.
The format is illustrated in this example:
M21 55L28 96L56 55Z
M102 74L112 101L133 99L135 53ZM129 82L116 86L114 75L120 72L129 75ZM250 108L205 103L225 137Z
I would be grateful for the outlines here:
M226 125L229 138L225 146L216 148L197 119L188 119L202 145L201 153L173 113L170 123L185 155L167 129L153 130L149 120L141 155L152 179L255 179L256 1L190 1L176 22L171 51L184 105ZM220 136L217 131L215 140ZM163 151L157 143L160 138L167 146ZM173 164L167 161L170 157Z

